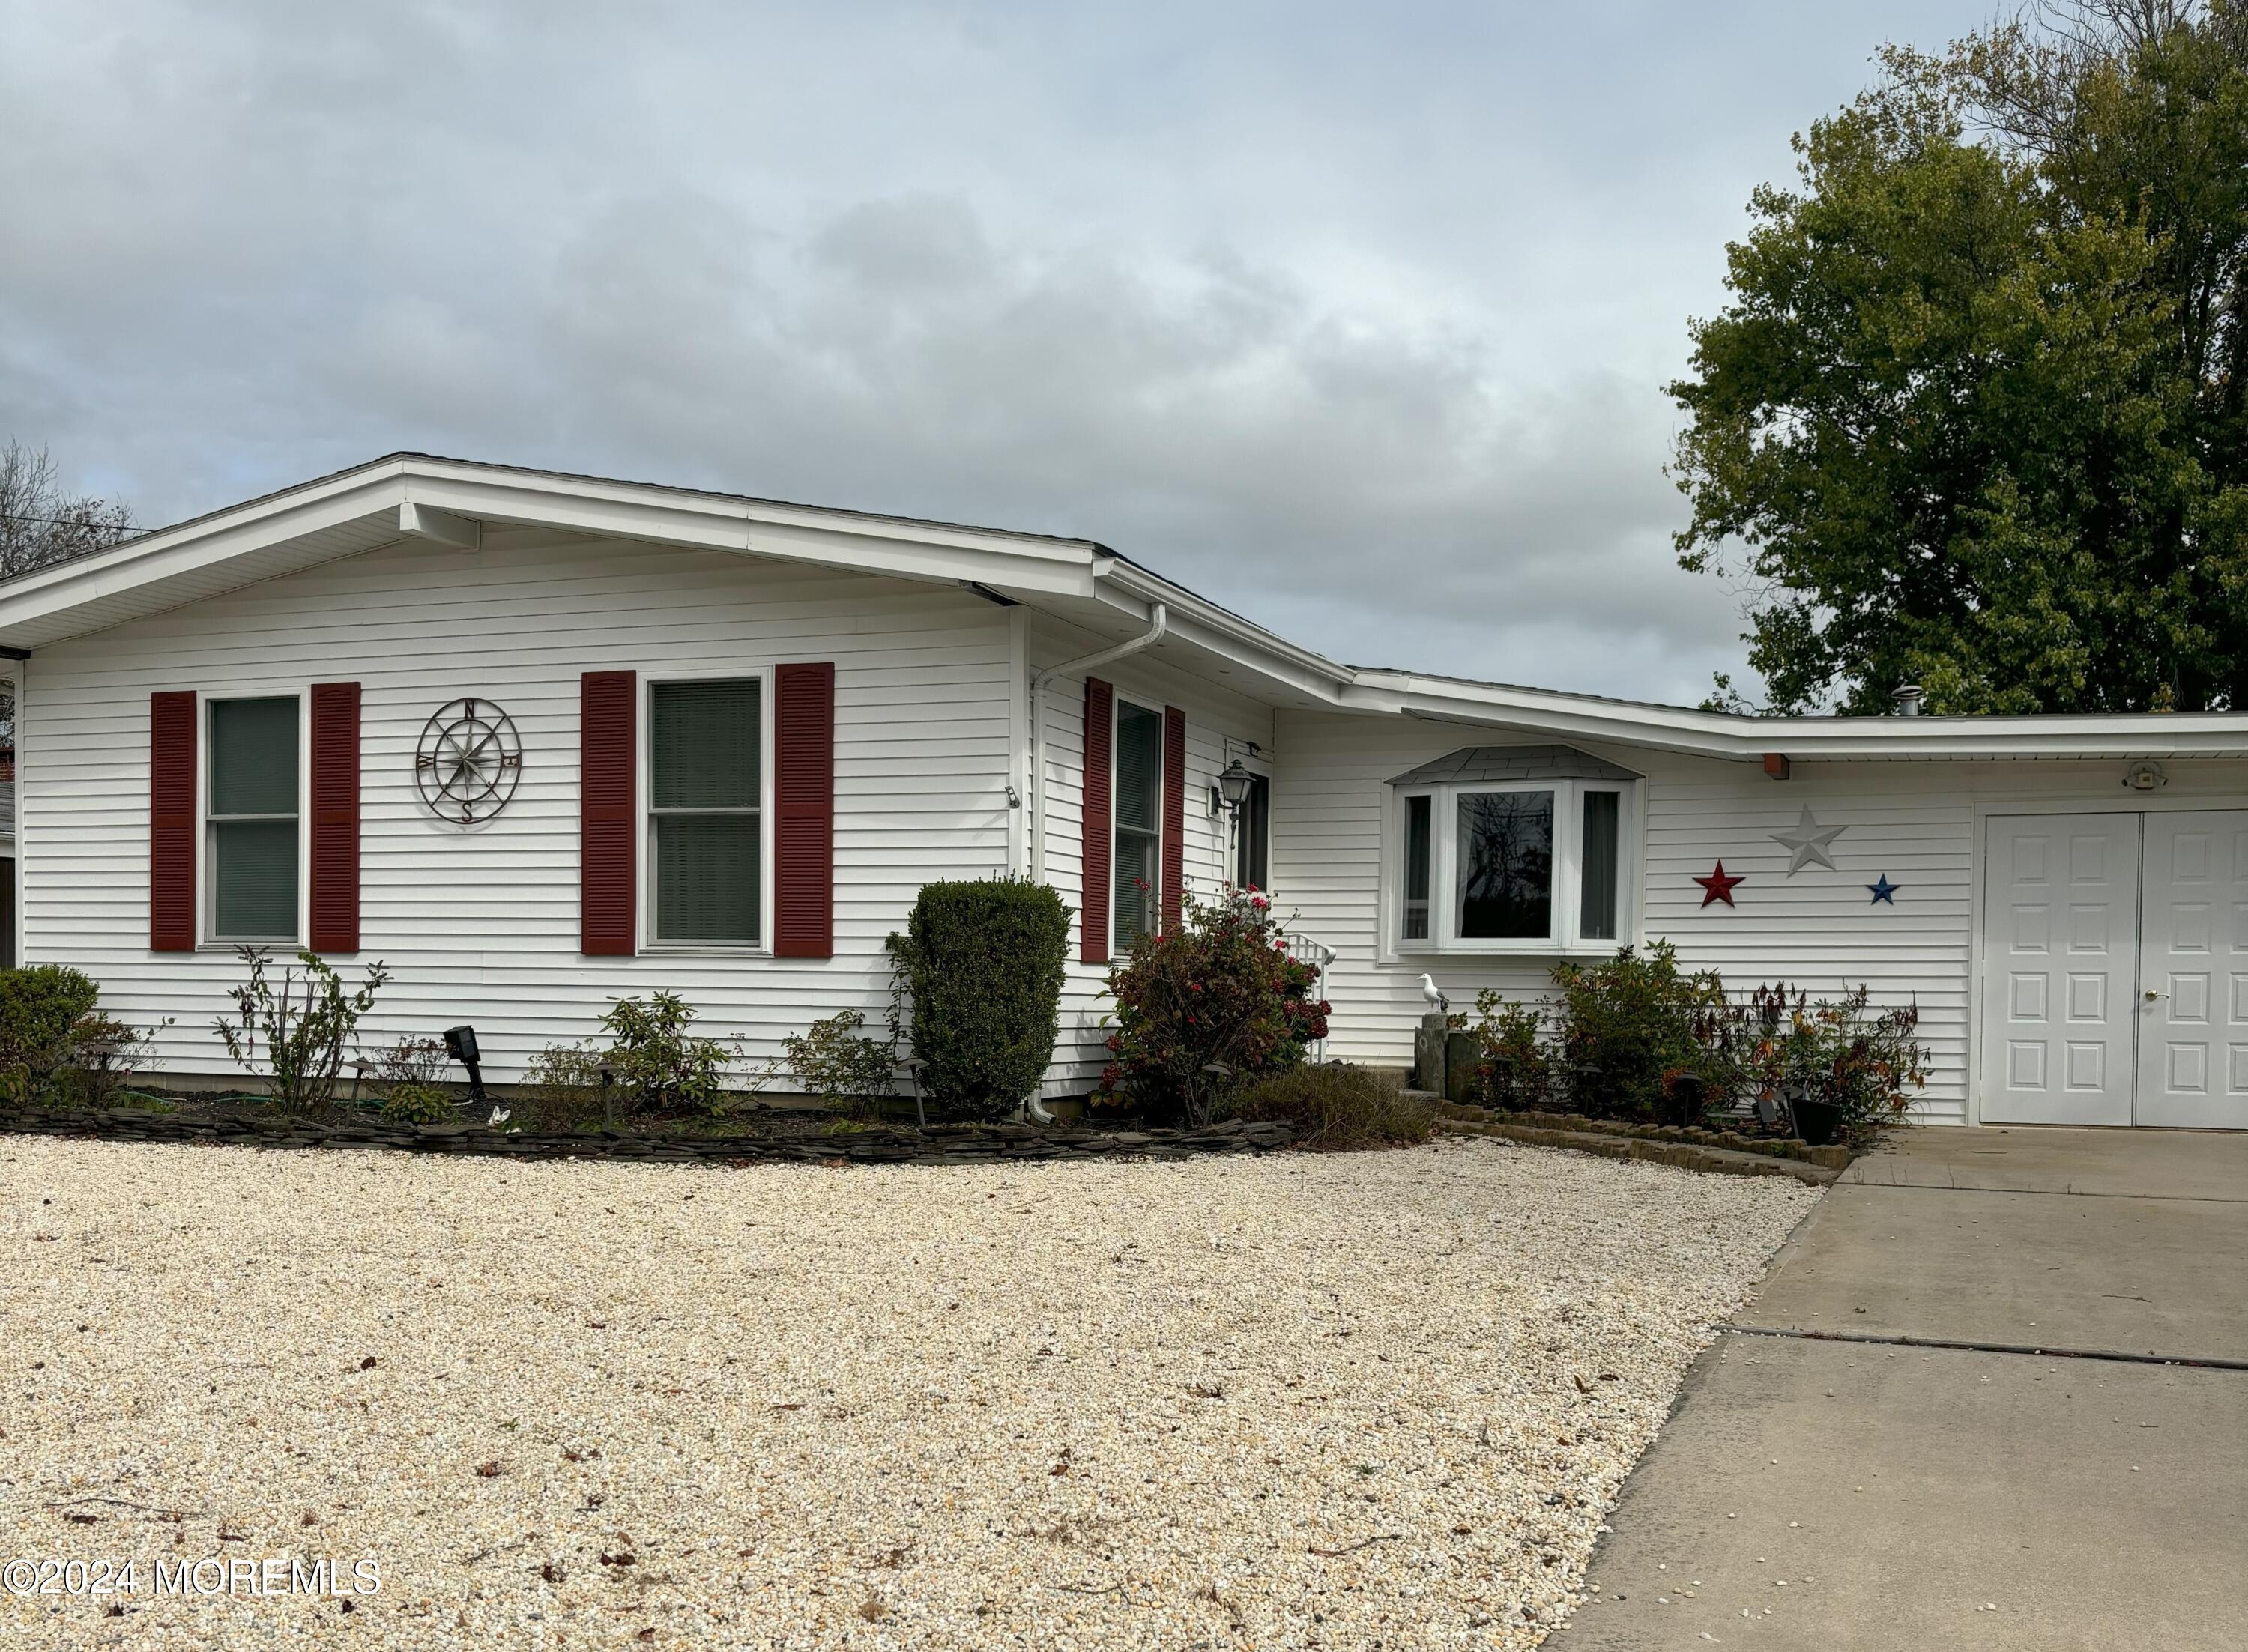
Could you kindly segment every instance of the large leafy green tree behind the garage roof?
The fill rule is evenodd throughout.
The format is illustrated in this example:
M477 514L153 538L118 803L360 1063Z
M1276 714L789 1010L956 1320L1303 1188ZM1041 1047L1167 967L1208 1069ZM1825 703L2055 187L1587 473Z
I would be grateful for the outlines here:
M1679 562L1778 712L2248 706L2248 0L1884 61L1695 324Z

